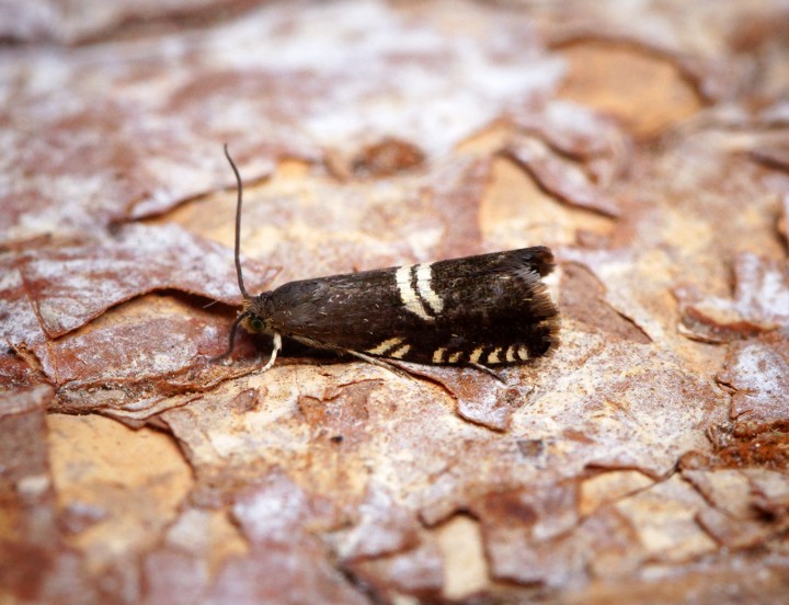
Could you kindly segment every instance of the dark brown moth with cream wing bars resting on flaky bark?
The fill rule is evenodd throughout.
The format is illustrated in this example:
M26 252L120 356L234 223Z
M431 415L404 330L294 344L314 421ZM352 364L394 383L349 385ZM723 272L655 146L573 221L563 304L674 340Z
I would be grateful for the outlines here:
M544 246L434 263L377 269L290 282L250 296L240 261L242 181L225 146L237 182L236 274L243 306L239 326L308 346L345 353L376 365L493 366L523 364L558 345L559 311L540 281L554 266Z

